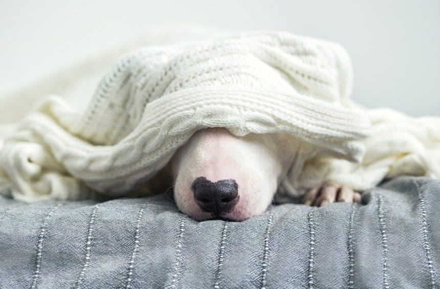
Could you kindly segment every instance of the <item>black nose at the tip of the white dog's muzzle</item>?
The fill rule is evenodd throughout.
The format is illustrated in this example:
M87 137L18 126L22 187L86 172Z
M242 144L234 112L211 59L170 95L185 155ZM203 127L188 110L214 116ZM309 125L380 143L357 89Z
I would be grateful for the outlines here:
M213 183L205 177L199 177L194 180L191 189L199 207L216 216L231 212L240 198L235 180L221 180Z

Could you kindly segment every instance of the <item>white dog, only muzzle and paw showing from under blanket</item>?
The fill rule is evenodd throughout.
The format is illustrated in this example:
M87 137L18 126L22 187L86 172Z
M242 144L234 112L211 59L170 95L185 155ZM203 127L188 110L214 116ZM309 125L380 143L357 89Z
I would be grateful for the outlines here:
M156 183L172 183L180 211L197 221L244 221L272 203L299 148L285 134L232 135L224 128L195 132L178 149ZM328 181L311 188L301 203L359 203L361 194Z

